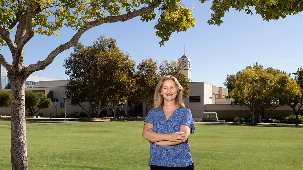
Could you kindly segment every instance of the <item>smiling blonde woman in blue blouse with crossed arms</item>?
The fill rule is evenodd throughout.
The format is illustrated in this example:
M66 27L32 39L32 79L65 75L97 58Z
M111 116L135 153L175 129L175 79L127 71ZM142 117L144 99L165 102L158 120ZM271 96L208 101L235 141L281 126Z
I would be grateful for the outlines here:
M195 126L191 111L183 103L182 86L174 76L166 75L159 81L154 98L142 133L151 143L148 165L151 170L194 169L187 138Z

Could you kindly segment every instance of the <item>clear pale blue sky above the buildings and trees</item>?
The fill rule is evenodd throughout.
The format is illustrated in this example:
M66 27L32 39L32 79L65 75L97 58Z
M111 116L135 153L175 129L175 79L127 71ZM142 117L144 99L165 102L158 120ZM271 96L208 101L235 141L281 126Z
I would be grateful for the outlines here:
M223 24L217 26L207 24L211 2L201 4L195 0L183 3L187 7L195 6L193 16L196 25L186 32L173 33L162 47L158 44L160 38L155 36L156 20L143 23L140 17L102 24L88 30L79 42L89 46L101 35L115 38L118 47L127 51L136 64L148 56L158 63L163 59L178 59L183 55L185 43L185 55L191 59L192 82L204 81L218 87L225 87L226 75L235 74L256 62L265 68L291 73L302 66L302 13L267 22L255 13L246 15L244 11L230 10L222 18ZM45 59L52 50L69 41L75 32L64 27L59 33L60 37L36 34L24 47L25 66ZM1 50L0 53L12 64L8 47ZM70 48L62 52L45 70L33 74L67 79L62 63L72 51Z

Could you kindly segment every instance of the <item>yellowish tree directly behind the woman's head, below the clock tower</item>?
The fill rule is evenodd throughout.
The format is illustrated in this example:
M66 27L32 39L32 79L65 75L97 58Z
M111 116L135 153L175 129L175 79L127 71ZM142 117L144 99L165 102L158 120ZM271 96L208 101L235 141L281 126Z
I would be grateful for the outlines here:
M175 76L184 89L184 100L185 98L188 98L191 84L189 83L190 79L188 79L187 76L182 72L181 63L177 60L171 61L170 63L168 63L166 60L163 60L159 66L159 77L161 78L165 75Z

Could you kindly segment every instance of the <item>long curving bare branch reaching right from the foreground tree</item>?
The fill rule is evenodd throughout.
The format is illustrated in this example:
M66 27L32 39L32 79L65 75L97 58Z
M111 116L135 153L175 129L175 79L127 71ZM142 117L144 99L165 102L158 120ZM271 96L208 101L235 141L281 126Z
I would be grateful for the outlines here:
M68 41L67 43L65 43L63 45L60 45L55 50L53 50L47 56L47 58L45 60L38 61L38 63L36 63L36 64L30 64L26 68L26 71L28 72L28 74L31 74L35 71L45 69L46 66L48 66L50 63L52 63L52 61L55 59L56 56L58 56L58 54L60 54L64 50L67 50L67 49L75 46L78 43L82 34L93 27L99 26L104 23L121 22L121 21L125 22L125 21L135 18L137 16L140 16L143 14L148 14L148 13L152 12L154 9L155 9L155 6L148 6L145 8L140 8L139 10L137 10L135 12L122 14L122 15L118 15L118 16L108 16L105 19L97 19L95 21L90 21L87 24L85 24L83 27L81 27L77 31L77 33L72 37L72 39L70 41Z

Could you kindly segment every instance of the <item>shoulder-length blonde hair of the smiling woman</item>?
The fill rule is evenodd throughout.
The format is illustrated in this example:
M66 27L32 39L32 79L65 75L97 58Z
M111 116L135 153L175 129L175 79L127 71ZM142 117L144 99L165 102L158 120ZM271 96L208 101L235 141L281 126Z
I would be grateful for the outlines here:
M185 104L183 103L183 87L180 85L179 81L175 76L172 75L165 75L163 76L160 81L158 82L158 85L155 89L155 95L154 95L154 108L153 110L160 111L163 108L164 105L164 99L161 95L161 89L163 86L164 81L166 80L172 80L176 83L176 88L178 90L178 95L175 98L175 103L177 107L185 107Z

